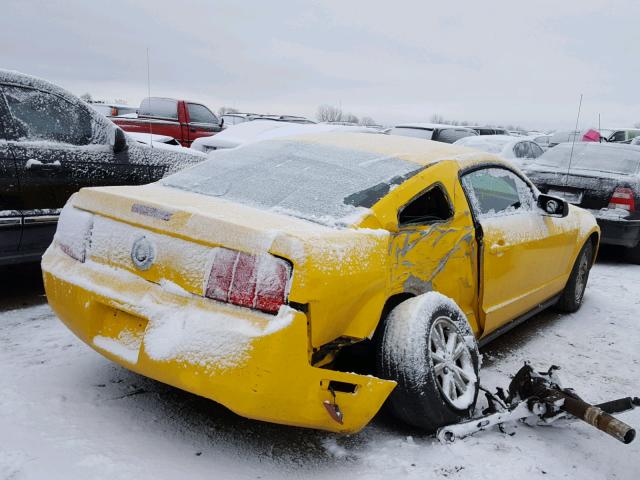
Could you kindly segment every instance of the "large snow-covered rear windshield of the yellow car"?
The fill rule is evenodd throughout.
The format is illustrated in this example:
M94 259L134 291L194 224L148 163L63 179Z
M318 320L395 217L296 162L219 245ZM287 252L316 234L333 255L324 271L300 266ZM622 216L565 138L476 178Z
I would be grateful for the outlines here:
M324 225L347 225L423 168L360 150L268 140L218 150L161 183Z

